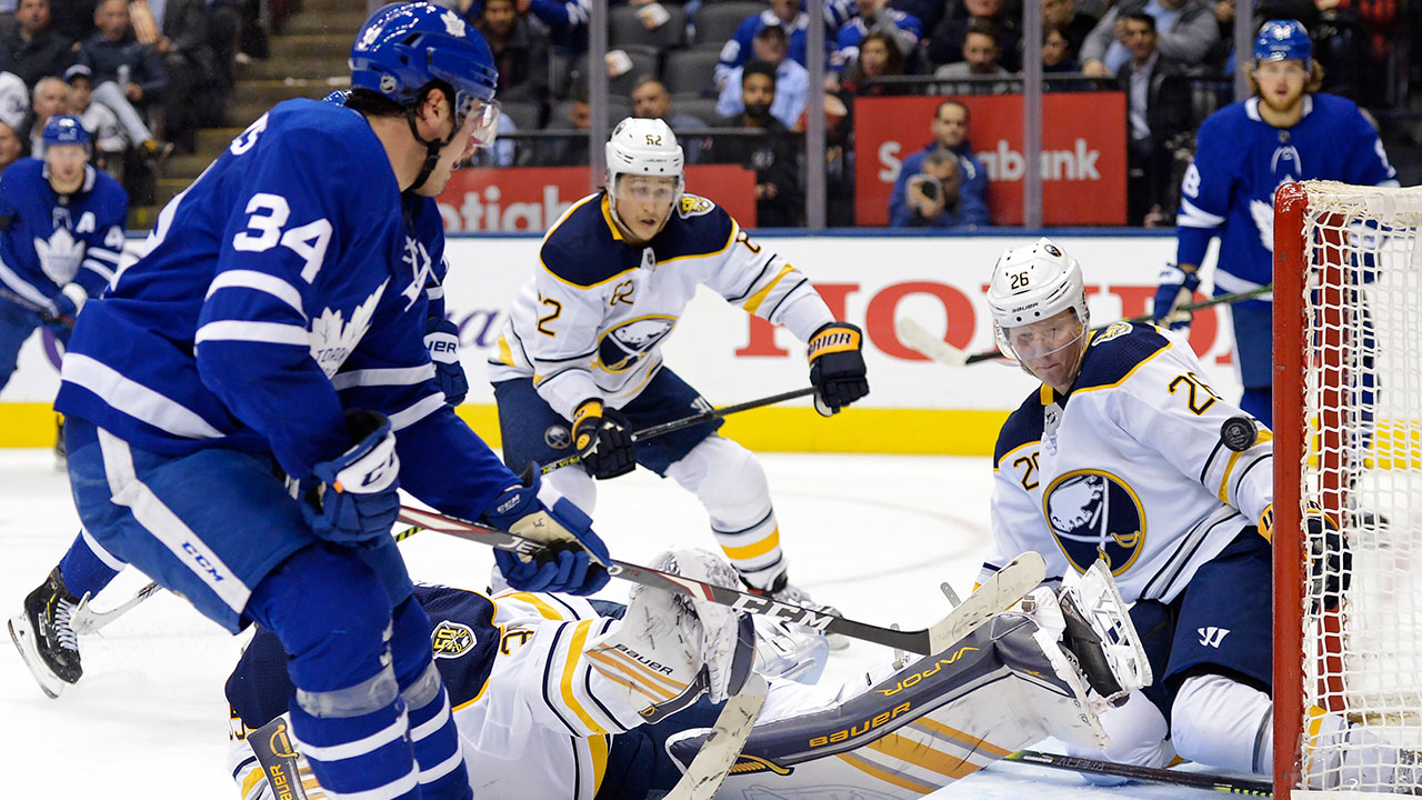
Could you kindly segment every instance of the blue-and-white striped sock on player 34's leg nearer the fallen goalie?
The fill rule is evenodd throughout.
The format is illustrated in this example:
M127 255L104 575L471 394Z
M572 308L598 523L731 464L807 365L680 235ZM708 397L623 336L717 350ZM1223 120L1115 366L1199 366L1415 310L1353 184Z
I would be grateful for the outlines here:
M419 793L425 799L469 800L469 777L449 695L429 655L429 618L407 598L394 614L391 649L400 698L410 709L410 742L419 764Z

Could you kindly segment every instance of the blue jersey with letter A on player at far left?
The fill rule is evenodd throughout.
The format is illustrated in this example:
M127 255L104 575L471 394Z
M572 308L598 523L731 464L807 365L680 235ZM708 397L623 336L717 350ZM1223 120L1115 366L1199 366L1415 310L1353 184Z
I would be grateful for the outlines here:
M48 168L21 158L0 175L0 289L48 315L65 283L97 298L118 272L128 194L92 167L70 195L50 186Z

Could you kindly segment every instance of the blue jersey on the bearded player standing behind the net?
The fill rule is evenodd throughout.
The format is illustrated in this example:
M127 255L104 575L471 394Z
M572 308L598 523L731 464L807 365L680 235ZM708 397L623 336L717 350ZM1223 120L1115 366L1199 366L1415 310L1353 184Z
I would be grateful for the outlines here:
M1200 125L1194 164L1180 185L1179 263L1199 266L1220 236L1219 292L1249 292L1274 278L1274 191L1307 179L1396 186L1382 140L1351 100L1304 95L1288 130L1266 122L1260 98L1227 105Z

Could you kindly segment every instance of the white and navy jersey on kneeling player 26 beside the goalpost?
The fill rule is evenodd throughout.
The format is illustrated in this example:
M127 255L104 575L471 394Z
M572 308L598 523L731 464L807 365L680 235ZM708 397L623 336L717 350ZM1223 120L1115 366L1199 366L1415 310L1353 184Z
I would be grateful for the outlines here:
M1103 558L1128 602L1175 599L1273 501L1273 434L1243 453L1220 441L1240 414L1159 329L1094 335L1071 391L1042 386L998 434L983 575L1025 551L1055 578Z

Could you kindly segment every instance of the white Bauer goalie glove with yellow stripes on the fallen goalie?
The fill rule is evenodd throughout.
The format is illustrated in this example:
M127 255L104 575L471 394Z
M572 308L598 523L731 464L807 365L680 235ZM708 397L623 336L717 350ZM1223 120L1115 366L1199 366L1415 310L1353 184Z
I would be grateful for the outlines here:
M702 549L674 549L654 569L735 586L735 569ZM755 659L749 619L724 605L636 586L621 626L587 646L593 669L620 686L647 722L675 713L707 692L722 702L741 690Z

